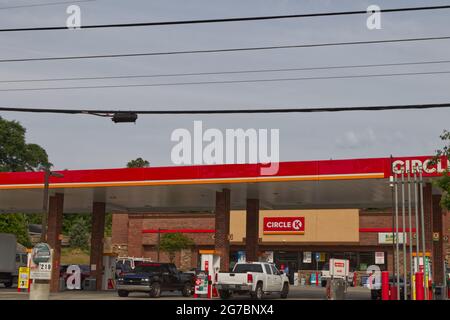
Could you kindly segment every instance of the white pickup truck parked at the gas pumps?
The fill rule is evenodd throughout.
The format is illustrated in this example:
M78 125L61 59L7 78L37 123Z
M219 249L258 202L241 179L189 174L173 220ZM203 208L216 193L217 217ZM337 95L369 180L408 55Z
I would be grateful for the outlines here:
M254 299L262 299L265 294L271 293L286 298L289 293L288 277L275 265L266 262L237 263L233 272L219 272L216 282L222 299L228 299L235 293L250 294Z

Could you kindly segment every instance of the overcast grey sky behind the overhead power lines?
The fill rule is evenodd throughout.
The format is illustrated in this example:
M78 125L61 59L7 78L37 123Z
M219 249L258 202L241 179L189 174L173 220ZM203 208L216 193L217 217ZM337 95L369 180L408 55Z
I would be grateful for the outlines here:
M0 28L63 26L68 4L2 9L61 0L0 0ZM76 1L74 1L74 4ZM339 4L339 5L338 5ZM449 4L449 1L290 0L96 0L78 3L82 24L227 18ZM382 15L382 30L368 30L365 15L126 29L0 33L0 59L449 36L450 10ZM84 61L0 64L0 81L47 77L114 76L242 69L314 67L450 59L450 40L344 47L283 49ZM367 73L450 71L441 65L294 71L161 79L0 83L0 89L71 85L139 84ZM322 107L443 103L450 74L292 82L1 92L10 107L95 109L200 109ZM55 169L123 167L143 157L172 165L174 129L280 129L280 158L337 159L432 154L450 129L450 109L340 114L140 116L136 124L83 115L18 114L6 119L27 128L27 140L43 146Z

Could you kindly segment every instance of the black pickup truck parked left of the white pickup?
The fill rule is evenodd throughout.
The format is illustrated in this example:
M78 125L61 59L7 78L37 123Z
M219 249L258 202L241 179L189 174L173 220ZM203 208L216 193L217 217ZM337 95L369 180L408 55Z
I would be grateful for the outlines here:
M194 286L195 275L178 271L173 263L141 263L117 279L119 297L127 297L130 292L146 292L158 298L162 291L180 291L189 297Z

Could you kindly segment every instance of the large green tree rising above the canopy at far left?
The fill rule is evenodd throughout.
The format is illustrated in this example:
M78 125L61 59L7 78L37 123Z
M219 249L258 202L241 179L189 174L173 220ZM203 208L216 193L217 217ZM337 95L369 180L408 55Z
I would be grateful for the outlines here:
M48 155L37 144L25 142L26 129L0 117L0 171L36 171L50 168Z

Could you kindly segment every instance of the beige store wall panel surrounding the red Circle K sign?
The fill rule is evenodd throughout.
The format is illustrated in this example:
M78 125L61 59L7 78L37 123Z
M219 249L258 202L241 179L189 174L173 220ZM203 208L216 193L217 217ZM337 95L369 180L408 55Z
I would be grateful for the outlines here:
M305 234L264 234L264 217L305 217ZM232 243L243 243L246 228L246 212L231 211L230 233ZM259 212L259 237L262 243L312 243L338 244L359 242L358 209L317 210L261 210Z

